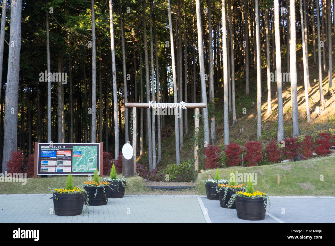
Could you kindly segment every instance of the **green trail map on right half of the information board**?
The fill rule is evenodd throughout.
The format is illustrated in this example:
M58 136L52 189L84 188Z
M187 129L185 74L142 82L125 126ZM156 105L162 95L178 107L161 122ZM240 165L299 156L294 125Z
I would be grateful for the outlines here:
M94 172L97 146L73 146L72 172Z

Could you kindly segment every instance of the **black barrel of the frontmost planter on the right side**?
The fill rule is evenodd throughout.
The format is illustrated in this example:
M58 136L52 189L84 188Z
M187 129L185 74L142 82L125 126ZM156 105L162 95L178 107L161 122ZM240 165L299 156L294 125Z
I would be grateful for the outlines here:
M267 198L265 198L267 202ZM237 217L242 220L264 220L266 208L263 197L237 196L235 199Z

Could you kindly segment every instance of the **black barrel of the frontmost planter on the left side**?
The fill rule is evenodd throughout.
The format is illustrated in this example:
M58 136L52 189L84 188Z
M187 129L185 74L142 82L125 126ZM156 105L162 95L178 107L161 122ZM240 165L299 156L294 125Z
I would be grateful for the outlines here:
M84 195L79 193L54 193L55 215L75 216L81 215L84 206Z

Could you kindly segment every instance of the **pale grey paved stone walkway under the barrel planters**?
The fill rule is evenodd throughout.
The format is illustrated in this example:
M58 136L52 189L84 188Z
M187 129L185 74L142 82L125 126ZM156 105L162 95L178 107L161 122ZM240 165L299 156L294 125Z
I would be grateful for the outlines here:
M236 210L196 195L125 195L84 215L53 214L52 194L0 195L0 223L334 223L335 197L270 197L263 221L237 218ZM85 206L84 206L85 207Z

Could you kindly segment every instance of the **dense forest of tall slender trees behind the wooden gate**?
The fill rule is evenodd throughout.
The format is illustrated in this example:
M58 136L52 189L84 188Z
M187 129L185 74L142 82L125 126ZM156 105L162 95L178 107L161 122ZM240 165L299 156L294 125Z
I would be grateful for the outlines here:
M335 93L335 0L0 2L3 172L12 151L32 154L34 142L104 142L104 151L118 158L122 145L132 142L127 102L205 102L200 142L213 145L223 138L227 145L229 129L238 122L237 108L243 110L237 93L256 99L257 138L262 113L275 114L279 142L284 138L284 82L291 90L292 137L300 134L298 103L303 101L304 120L310 123L311 106L325 109ZM297 96L298 82L303 100ZM311 105L314 86L319 101ZM217 110L223 113L223 136L216 130L221 123L215 121ZM137 109L137 154L148 152L150 170L162 160L161 131L169 124L175 126L180 163L184 140L193 134L193 116L193 109L183 110L180 118Z

